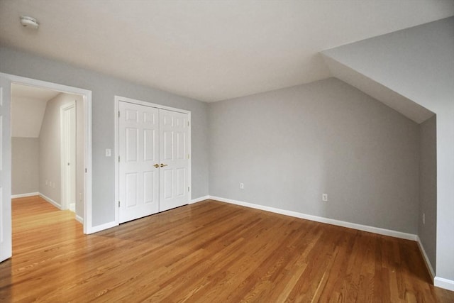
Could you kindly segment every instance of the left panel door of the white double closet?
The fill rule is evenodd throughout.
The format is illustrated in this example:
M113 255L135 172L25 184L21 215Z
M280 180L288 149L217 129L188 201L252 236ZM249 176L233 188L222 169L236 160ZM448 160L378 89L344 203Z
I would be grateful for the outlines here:
M119 223L159 211L159 111L119 102Z

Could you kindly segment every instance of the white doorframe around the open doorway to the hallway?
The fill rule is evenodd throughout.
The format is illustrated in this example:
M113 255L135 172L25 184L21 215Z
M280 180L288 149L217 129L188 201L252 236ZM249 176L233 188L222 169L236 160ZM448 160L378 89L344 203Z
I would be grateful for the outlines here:
M21 77L0 72L1 77L5 77L11 81L11 84L28 85L32 87L40 87L44 89L52 89L57 92L65 92L68 94L79 94L83 97L84 104L84 159L85 159L85 174L84 174L84 233L94 233L96 230L92 226L92 91L88 89L80 89L70 87L63 84L46 82L38 79ZM9 101L11 104L11 100ZM11 134L9 135L11 140ZM11 203L11 201L9 202Z

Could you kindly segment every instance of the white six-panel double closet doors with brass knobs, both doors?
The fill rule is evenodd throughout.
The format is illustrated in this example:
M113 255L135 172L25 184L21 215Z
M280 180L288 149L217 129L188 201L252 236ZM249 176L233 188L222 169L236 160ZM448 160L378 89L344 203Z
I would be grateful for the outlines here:
M189 115L120 101L119 223L189 202Z

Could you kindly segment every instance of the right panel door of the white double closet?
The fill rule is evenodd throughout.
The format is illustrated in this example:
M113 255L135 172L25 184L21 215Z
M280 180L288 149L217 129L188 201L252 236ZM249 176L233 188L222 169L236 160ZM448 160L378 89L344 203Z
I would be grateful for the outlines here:
M189 119L187 114L160 109L159 211L189 201Z

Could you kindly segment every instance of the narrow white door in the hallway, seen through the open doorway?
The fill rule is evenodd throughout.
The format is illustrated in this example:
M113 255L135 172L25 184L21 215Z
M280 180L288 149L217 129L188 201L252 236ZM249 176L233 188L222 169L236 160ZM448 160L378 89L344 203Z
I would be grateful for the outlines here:
M61 108L62 208L76 210L76 103Z

